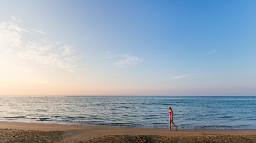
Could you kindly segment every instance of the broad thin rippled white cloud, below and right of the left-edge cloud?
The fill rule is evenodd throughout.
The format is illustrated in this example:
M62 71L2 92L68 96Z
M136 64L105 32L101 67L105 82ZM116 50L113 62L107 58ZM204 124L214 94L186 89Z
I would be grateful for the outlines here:
M19 58L34 60L44 65L60 67L67 69L69 72L79 71L77 61L81 60L82 56L74 56L72 46L41 40L36 43L28 42L27 46L22 49L22 52L17 53Z

